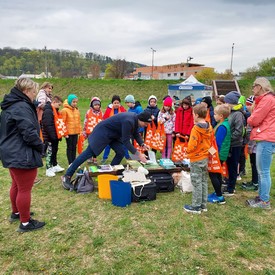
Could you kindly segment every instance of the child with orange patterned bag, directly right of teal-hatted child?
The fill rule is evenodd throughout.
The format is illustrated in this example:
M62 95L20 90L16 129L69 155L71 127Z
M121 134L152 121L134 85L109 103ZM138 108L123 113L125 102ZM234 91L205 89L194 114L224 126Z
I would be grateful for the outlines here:
M103 120L101 111L101 101L98 97L92 97L90 102L90 109L87 111L84 119L83 136L88 138L95 126ZM96 158L89 159L88 162L96 163Z

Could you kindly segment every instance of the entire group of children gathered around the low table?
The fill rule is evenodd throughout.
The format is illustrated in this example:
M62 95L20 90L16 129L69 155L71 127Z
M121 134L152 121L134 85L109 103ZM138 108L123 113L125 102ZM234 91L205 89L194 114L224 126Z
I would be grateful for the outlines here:
M66 153L70 165L76 158L80 134L87 138L102 120L120 112L126 112L118 95L112 97L111 103L104 113L101 110L100 99L93 97L82 127L76 95L70 94L64 103L58 96L50 97L48 95L46 99L41 116L41 128L47 146L46 175L49 177L64 170L57 162L58 143L62 137L66 138ZM197 99L193 104L191 97L187 96L179 104L175 104L175 99L166 96L163 98L161 109L159 109L156 96L151 95L149 97L148 106L144 111L151 114L152 123L156 127L163 124L166 135L166 146L162 151L162 158L171 158L173 140L176 137L189 141L187 154L190 159L190 175L194 191L192 203L184 206L187 212L201 213L201 211L207 210L207 201L224 204L224 196L234 195L236 180L239 175L240 156L244 151L245 140L249 141L249 138L246 137L249 136L250 129L246 127L246 119L251 112L253 100L254 97L251 96L247 99L246 104L240 103L240 94L232 91L217 98L217 106L214 108L211 97ZM63 108L59 111L62 103ZM140 103L135 101L133 95L127 95L125 103L129 112L139 114L143 111ZM139 132L142 136L146 136L146 129L140 128ZM221 173L208 173L207 163L209 152L213 147L213 139L217 144L221 165L227 164L227 179L224 179ZM255 164L255 142L248 143L252 181L244 183L244 189L256 188L258 177ZM103 153L102 163L107 161L109 153L110 147L107 146ZM126 148L124 153L125 158L130 159ZM96 159L90 160L94 163L96 161ZM209 195L208 175L214 188L214 192ZM225 190L222 190L223 185L226 186Z

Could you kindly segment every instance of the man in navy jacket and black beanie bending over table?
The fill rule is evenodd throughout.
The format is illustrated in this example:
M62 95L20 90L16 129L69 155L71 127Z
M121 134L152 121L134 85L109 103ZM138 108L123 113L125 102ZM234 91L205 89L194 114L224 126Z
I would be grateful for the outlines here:
M131 138L135 139L140 146L144 146L148 150L149 148L144 144L138 129L139 127L148 126L151 121L151 114L148 112L140 114L131 112L119 113L101 121L89 135L87 149L68 168L65 177L63 177L63 186L67 189L71 188L70 178L76 169L87 159L100 155L107 145L110 145L115 151L115 157L111 165L117 165L123 159L123 145L132 154L138 156L142 162L146 162L146 156L137 151L131 143Z

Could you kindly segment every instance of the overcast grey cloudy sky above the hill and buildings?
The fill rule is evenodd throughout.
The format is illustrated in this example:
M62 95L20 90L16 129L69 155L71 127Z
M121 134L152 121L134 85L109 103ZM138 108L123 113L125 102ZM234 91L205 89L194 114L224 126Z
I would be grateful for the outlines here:
M0 0L0 48L94 52L234 73L275 57L275 0Z

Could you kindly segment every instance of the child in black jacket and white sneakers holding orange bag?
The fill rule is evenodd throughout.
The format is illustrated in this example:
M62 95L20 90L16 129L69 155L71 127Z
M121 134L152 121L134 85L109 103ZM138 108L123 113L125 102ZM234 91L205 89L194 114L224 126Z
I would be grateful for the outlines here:
M42 132L44 140L48 142L46 157L46 176L54 177L55 173L64 171L57 163L58 142L68 135L59 108L63 100L55 96L52 102L47 102L42 115Z

